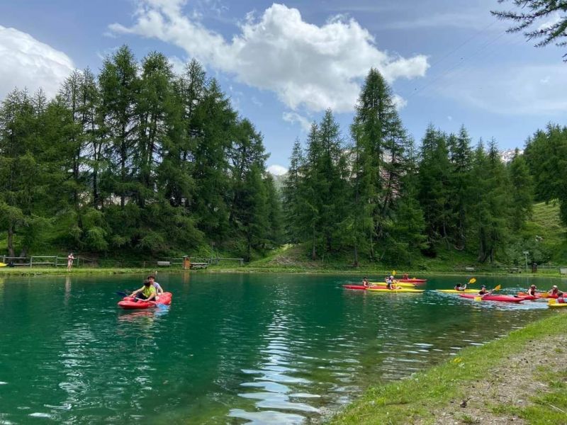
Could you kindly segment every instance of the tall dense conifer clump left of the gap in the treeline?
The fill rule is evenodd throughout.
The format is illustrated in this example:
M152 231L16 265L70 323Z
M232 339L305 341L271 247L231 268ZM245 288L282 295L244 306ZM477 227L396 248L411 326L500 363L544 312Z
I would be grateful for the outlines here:
M13 91L0 107L0 232L10 256L65 249L152 256L208 241L252 258L281 243L262 135L198 62L183 75L120 47L98 77L56 98Z

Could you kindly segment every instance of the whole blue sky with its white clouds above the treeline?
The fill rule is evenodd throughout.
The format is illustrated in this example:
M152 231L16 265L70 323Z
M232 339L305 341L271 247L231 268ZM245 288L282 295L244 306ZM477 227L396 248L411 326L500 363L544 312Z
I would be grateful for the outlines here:
M13 86L52 95L71 69L99 69L126 43L191 57L220 81L264 135L272 169L325 108L344 139L369 67L391 83L417 142L429 123L464 124L473 141L522 147L549 121L565 124L567 64L490 16L496 0L0 0L0 96ZM553 21L556 16L550 16ZM545 20L538 25L545 25Z

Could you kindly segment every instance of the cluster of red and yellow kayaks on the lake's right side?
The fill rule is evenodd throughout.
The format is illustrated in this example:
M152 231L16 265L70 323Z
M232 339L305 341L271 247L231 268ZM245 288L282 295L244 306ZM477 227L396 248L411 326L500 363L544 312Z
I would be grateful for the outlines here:
M382 282L370 282L369 286L364 285L342 285L345 289L352 290L366 290L378 293L423 293L425 290L416 289L415 286L420 283L427 282L427 279L402 279L396 280L393 283L393 288L388 289L386 283ZM500 288L500 285L497 289ZM486 295L478 295L478 289L465 289L465 290L455 290L455 289L437 289L439 293L455 294L462 298L468 298L471 300L479 301L499 301L499 302L522 302L528 300L539 300L539 299L549 299L549 307L567 307L567 302L564 301L563 297L559 295L553 295L549 293L536 293L536 295L528 295L527 293L517 293L517 295L498 295L489 293Z

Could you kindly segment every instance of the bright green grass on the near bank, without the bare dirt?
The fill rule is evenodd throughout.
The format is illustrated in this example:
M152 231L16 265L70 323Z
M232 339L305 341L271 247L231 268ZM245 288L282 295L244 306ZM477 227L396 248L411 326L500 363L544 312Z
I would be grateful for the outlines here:
M549 339L560 334L567 325L566 314L556 314L527 327L512 331L508 336L484 346L466 348L459 356L447 363L436 366L422 373L417 373L406 380L391 382L369 389L361 399L350 404L334 416L332 424L411 424L419 421L433 424L434 413L446 407L451 401L464 399L464 388L468 383L483 380L495 365L502 364L508 356L522 353L524 347L538 339ZM490 361L487 361L490 359ZM561 377L563 377L561 375ZM554 378L549 376L549 382ZM557 377L555 377L557 380ZM522 409L521 415L532 424L560 424L556 421L561 413L549 407L553 404L559 409L566 406L565 382L556 384L554 391L534 397L535 404ZM507 407L493 409L502 413ZM517 413L517 408L515 409ZM474 420L473 418L461 418ZM554 421L555 420L555 421ZM473 423L473 422L467 422Z

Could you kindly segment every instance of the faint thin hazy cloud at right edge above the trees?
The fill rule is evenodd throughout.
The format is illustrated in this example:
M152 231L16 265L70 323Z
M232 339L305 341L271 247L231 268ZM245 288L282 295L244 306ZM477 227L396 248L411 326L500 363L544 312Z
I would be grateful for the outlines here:
M468 106L503 115L565 115L565 65L508 64L478 68L466 79L449 74L439 91Z

